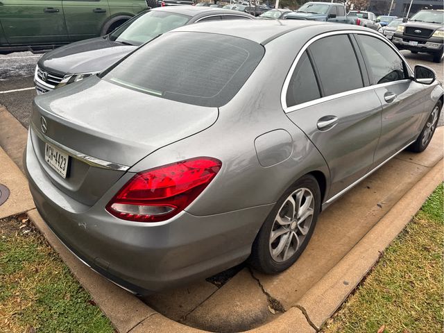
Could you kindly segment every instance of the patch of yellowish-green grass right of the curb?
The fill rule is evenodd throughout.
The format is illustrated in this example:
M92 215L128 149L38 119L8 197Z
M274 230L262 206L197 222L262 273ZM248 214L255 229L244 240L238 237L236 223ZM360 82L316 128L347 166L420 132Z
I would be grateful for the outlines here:
M443 332L443 184L323 332Z

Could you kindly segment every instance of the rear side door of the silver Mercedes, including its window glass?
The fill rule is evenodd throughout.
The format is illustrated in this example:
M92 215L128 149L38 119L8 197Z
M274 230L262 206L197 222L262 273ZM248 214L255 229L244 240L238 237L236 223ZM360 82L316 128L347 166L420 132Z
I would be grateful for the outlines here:
M325 158L330 200L367 173L379 139L381 103L362 66L357 45L341 33L310 44L287 78L284 110Z

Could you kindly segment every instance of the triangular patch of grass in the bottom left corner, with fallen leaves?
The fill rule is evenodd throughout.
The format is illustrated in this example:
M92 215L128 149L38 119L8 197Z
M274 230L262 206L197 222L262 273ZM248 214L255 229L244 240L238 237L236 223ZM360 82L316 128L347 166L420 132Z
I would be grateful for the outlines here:
M0 333L114 332L26 219L0 220Z

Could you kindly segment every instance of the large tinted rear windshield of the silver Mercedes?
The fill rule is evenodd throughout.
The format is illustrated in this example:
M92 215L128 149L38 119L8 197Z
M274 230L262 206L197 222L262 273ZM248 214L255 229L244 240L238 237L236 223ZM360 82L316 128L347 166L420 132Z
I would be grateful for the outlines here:
M239 92L262 56L263 46L243 38L167 33L101 77L164 99L219 108Z

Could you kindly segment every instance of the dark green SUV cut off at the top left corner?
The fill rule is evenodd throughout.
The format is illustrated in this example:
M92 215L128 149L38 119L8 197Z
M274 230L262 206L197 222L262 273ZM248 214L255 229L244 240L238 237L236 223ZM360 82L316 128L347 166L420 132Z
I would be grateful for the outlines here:
M0 51L37 51L105 35L146 0L0 0Z

